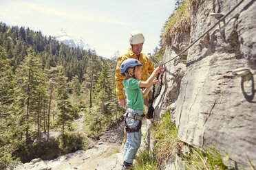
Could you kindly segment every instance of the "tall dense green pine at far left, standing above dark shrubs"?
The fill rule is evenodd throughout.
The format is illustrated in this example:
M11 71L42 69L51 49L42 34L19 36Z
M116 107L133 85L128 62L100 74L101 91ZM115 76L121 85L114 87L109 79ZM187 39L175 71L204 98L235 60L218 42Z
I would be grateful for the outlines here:
M29 48L28 56L17 71L17 86L14 90L15 109L19 117L21 137L25 131L26 145L29 143L30 129L39 120L40 107L40 84L42 82L42 65L39 58L36 58L34 51ZM38 134L39 135L39 134Z

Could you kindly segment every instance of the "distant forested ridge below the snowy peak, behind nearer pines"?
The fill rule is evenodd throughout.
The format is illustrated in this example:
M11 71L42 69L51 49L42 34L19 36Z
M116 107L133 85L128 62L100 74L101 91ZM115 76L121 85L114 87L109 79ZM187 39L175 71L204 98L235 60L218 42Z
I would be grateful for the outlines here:
M59 43L52 36L43 36L41 32L34 32L29 28L8 27L5 23L0 23L0 45L6 49L8 58L12 59L14 71L28 55L28 47L31 47L42 59L44 68L63 65L68 80L72 80L72 77L77 75L79 82L83 81L88 58L95 53L92 50L70 48Z

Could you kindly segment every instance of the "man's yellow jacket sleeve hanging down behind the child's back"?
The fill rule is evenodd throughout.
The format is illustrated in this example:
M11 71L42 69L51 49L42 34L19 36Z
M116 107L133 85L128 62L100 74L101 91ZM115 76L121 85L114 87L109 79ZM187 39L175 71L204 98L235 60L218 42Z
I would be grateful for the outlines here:
M118 95L118 100L124 100L125 99L125 95L122 93L122 90L124 88L122 81L125 80L125 77L121 75L120 73L120 66L122 64L122 61L124 61L125 59L122 58L122 56L118 57L118 62L116 65L116 93Z

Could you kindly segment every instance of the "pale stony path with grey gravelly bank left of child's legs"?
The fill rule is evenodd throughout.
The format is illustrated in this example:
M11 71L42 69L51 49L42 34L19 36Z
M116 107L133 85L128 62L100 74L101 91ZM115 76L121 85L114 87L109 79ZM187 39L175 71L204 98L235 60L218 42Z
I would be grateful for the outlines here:
M83 132L84 114L80 114L74 123L76 123L77 127L75 132L82 132L87 137L87 134ZM58 135L58 133L52 133L52 136L56 135ZM98 141L89 138L90 149L86 151L79 150L71 154L59 156L54 160L41 160L41 158L36 158L31 160L31 162L16 167L15 170L121 169L122 154L120 153L120 146L123 138L122 119L109 127L109 130L99 138Z

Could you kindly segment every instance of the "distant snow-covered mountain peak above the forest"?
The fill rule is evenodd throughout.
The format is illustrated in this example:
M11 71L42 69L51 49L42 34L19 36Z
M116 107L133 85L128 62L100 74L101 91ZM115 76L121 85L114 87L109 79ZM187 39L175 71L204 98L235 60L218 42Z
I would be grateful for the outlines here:
M85 50L92 49L92 47L90 47L90 45L86 42L85 39L83 39L82 37L74 38L67 34L66 30L63 28L54 37L56 38L56 40L58 40L59 42L63 42L63 44L68 45L69 47L79 47L80 49Z

